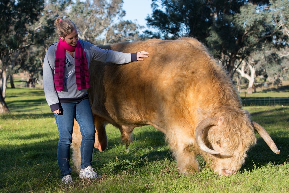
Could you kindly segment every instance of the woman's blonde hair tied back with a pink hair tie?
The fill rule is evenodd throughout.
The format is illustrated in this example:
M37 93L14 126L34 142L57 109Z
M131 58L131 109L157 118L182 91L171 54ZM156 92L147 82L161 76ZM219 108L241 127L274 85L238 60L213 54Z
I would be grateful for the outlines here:
M57 17L54 21L54 26L57 33L62 37L71 34L73 30L77 31L76 25L70 19L61 19L60 17Z

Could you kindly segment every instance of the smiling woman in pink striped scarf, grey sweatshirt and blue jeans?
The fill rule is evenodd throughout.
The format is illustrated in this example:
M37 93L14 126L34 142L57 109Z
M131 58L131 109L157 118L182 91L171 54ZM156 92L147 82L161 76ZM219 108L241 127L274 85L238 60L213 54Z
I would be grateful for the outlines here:
M59 131L57 157L61 182L70 184L73 183L69 161L74 119L77 120L82 135L79 177L88 179L101 177L91 166L95 126L87 94L90 87L88 76L90 62L99 60L125 64L143 60L141 57L148 57L149 53L115 52L78 40L77 28L70 19L57 18L54 25L60 40L53 43L45 55L43 87Z

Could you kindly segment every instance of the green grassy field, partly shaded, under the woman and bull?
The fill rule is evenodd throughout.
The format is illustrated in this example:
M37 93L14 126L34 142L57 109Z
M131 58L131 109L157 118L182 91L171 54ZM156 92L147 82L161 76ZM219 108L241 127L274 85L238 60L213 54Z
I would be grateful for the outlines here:
M258 142L236 175L219 177L202 157L201 172L179 174L161 132L151 126L136 128L134 144L126 150L119 130L108 125L108 148L95 150L92 163L103 178L86 181L73 172L75 183L62 185L58 129L43 90L8 89L5 101L15 109L0 115L0 192L289 192L288 106L244 107L281 153L274 154L256 134ZM21 105L25 107L17 110Z

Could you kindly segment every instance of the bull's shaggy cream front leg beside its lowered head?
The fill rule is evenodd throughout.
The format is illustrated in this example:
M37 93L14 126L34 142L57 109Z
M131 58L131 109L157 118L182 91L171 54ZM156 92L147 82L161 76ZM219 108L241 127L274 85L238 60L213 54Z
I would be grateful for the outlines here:
M177 161L177 168L180 173L194 173L199 172L199 162L196 159L196 152L194 150L192 137L189 133L181 130L170 130L166 134L166 141L168 142L173 156Z

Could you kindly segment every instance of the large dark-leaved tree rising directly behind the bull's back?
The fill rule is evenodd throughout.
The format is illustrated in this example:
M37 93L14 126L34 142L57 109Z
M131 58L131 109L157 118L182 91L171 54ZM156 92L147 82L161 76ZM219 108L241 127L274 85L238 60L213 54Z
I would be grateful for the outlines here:
M282 1L282 0L279 0ZM288 1L288 0L283 0ZM280 30L269 17L267 0L152 0L153 14L148 25L161 38L193 36L233 76L241 62L263 43L274 42ZM276 5L277 6L277 5ZM237 63L237 65L236 65Z

